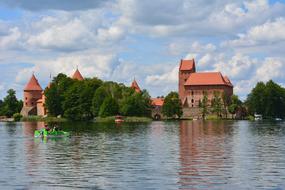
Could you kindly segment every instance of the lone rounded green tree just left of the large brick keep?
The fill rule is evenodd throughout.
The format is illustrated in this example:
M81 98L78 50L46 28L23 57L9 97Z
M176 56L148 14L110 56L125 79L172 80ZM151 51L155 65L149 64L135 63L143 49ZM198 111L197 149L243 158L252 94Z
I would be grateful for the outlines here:
M181 101L177 92L170 92L164 99L162 113L167 117L180 118L183 114Z

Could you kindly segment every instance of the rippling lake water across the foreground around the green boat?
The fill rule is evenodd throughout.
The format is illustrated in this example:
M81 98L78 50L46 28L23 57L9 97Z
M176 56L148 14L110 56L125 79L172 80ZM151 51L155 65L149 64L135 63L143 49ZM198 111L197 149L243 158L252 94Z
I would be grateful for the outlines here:
M285 123L0 123L0 189L285 189Z

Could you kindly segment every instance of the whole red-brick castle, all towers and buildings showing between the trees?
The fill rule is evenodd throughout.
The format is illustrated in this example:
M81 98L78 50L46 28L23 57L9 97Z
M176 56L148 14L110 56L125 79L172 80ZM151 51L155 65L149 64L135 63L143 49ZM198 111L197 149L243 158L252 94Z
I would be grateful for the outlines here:
M76 69L72 78L84 80L78 69ZM47 88L49 88L49 85ZM131 88L137 93L141 92L135 79L131 84ZM233 85L227 76L223 76L220 72L196 72L194 59L180 61L178 93L183 106L183 117L194 118L199 116L201 114L199 104L204 95L207 94L208 105L210 105L216 92L218 92L221 97L223 94L228 97L233 95ZM164 103L164 98L152 98L151 100L153 107L152 117L156 119L163 118L161 108ZM47 115L44 91L34 74L24 88L24 105L21 114L23 116Z

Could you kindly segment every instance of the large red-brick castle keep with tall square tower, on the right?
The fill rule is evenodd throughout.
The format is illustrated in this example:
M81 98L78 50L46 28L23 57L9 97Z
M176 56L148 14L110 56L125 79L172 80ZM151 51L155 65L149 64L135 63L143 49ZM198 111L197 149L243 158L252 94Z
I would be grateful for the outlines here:
M199 102L207 94L209 104L215 92L233 94L233 85L220 72L196 72L195 60L181 60L179 67L179 97L185 116L197 116Z

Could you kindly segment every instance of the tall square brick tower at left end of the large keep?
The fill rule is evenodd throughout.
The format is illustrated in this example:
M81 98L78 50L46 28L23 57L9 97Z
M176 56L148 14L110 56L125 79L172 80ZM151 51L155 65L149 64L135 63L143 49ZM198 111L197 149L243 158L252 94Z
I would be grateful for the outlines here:
M184 102L187 96L184 84L186 83L190 74L195 73L195 72L196 72L196 67L195 67L194 59L192 60L181 59L180 66L179 66L178 93L179 93L180 100L182 102Z

